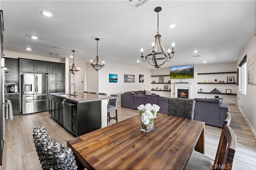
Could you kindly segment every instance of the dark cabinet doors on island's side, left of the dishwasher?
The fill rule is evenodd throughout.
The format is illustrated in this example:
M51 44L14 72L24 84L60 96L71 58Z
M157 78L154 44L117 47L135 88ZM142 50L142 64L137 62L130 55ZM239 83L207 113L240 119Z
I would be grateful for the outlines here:
M63 125L63 106L61 98L49 96L49 114L52 118Z

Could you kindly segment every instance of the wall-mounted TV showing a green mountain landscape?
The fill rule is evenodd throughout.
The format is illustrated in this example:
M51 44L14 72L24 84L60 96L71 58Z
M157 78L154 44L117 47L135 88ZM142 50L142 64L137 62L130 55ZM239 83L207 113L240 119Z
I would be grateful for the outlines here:
M194 65L170 66L170 78L194 78Z

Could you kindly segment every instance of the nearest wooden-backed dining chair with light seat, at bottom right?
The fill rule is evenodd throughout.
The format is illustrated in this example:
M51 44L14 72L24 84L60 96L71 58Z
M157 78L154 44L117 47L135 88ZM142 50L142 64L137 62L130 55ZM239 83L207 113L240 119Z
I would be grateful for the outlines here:
M215 160L194 150L185 170L231 170L236 152L236 134L227 124L223 124L219 144Z

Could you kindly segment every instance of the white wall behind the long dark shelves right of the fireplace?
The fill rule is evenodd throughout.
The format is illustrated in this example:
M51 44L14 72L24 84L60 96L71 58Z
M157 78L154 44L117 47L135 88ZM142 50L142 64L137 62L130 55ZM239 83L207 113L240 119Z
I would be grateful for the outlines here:
M221 63L221 64L199 64L197 66L198 73L208 73L208 72L236 72L237 64L234 63ZM224 81L227 82L228 76L234 76L234 82L236 82L236 73L232 74L200 74L197 75L198 82L217 82ZM199 88L203 88L204 92L211 92L215 88L222 93L226 93L226 89L231 89L231 93L236 94L237 86L236 84L197 84L197 91ZM197 94L198 98L214 98L214 96L219 96L223 98L223 102L236 104L236 96L234 95L223 95L223 94Z

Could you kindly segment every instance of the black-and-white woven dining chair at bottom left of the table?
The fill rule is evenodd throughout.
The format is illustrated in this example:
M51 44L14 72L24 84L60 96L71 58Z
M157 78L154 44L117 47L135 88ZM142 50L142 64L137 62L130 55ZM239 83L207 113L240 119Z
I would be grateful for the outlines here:
M76 170L76 160L71 148L54 142L44 125L34 127L33 139L43 170L70 169Z

